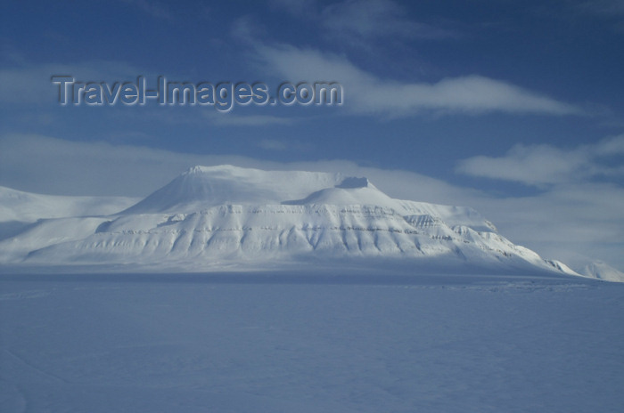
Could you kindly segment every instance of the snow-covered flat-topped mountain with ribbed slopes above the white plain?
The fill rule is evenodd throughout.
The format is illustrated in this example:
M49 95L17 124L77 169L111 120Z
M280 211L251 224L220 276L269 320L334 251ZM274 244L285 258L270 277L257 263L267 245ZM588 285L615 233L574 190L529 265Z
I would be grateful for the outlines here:
M0 241L0 263L210 271L303 262L579 275L469 207L390 198L362 177L236 166L195 166L118 214L43 220Z

